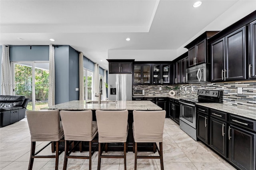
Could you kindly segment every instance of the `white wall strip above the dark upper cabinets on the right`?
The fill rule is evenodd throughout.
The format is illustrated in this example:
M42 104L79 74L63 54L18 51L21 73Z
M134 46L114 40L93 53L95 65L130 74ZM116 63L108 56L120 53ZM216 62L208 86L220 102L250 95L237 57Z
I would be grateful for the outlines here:
M184 43L181 47L177 49L177 57L182 55L188 49L184 48L188 43L192 42L195 38L200 36L206 31L218 31L223 30L224 28L234 24L238 20L244 18L248 14L256 10L256 0L240 0L234 4L231 8L226 10L222 15L216 18L203 30L198 32L194 37L192 37L188 42Z

